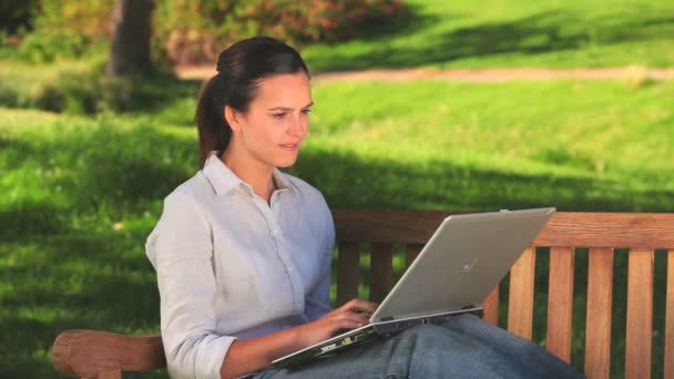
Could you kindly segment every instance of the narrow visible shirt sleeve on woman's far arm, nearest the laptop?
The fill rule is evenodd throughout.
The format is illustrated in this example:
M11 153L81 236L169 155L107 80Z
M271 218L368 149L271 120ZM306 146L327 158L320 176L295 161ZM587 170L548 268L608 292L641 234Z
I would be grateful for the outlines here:
M320 252L320 281L305 297L305 314L309 321L323 317L325 314L333 310L330 306L330 284L331 284L331 264L333 253L335 250L335 224L333 214L328 208L325 199L323 199L323 219L325 225L324 248Z

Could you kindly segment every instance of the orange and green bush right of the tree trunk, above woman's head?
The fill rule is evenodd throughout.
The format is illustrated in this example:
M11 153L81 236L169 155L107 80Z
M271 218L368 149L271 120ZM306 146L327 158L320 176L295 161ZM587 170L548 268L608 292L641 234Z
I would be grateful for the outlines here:
M213 61L233 41L267 34L295 45L356 37L405 12L400 0L171 0L157 7L156 37L175 62Z

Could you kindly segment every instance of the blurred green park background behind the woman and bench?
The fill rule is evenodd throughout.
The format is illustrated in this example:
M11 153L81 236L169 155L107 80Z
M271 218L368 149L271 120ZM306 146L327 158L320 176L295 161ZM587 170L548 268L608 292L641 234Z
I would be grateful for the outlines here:
M312 131L289 172L331 207L674 212L672 1L1 0L0 377L58 377L63 329L159 331L145 237L198 170L203 80L256 34L295 45L313 72ZM625 265L616 255L612 377ZM575 267L582 369L586 252Z

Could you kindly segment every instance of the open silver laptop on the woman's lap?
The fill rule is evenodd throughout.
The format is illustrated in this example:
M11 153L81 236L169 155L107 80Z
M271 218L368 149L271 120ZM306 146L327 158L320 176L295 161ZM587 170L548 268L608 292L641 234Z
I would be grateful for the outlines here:
M272 362L294 369L420 324L481 315L482 303L543 228L554 208L451 215L386 296L369 324Z

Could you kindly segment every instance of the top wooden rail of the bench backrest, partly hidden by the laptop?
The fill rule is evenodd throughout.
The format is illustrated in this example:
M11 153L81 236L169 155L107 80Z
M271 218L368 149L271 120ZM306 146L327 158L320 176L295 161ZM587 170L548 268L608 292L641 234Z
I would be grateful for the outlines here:
M335 209L338 240L425 244L449 211ZM534 246L667 248L674 213L558 212Z

